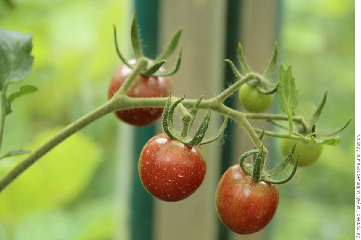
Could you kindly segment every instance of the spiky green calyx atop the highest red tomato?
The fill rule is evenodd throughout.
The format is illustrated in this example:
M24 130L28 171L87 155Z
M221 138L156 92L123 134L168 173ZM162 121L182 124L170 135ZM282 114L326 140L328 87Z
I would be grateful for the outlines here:
M134 65L130 64L129 61L122 55L121 51L119 50L116 27L115 26L113 26L113 27L114 27L114 42L115 42L117 54L124 64L126 64L131 69L134 69ZM159 71L159 70L162 67L162 65L167 62L167 59L177 49L179 38L181 37L183 29L184 29L184 27L181 27L174 33L168 46L156 59L154 59L154 60L148 59L148 62L149 62L148 67L145 68L142 72L140 72L140 74L142 74L143 76L146 76L146 77L149 77L149 76L165 77L165 76L173 75L176 72L178 72L179 67L181 66L181 62L182 62L182 47L180 47L180 49L179 49L178 56L177 56L177 62L175 63L175 66L168 71ZM140 37L139 37L140 36L139 28L138 28L138 24L136 21L135 13L134 13L133 19L132 19L130 35L131 35L131 43L132 43L132 49L134 52L134 56L135 56L135 59L138 61L140 58L144 57L144 54L143 54L141 41L140 41Z

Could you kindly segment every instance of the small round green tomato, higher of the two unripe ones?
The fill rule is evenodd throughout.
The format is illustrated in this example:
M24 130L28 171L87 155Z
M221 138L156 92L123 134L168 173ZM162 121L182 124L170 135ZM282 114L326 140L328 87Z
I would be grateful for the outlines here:
M245 109L260 113L271 107L274 95L264 94L258 91L256 87L244 83L239 89L238 98Z

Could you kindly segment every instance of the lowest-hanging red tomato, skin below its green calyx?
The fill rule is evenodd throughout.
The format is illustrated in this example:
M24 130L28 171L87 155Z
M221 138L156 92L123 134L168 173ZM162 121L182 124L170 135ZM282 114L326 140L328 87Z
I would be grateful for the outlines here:
M219 219L238 234L252 234L267 226L277 210L278 200L276 185L253 181L239 164L223 174L215 199Z

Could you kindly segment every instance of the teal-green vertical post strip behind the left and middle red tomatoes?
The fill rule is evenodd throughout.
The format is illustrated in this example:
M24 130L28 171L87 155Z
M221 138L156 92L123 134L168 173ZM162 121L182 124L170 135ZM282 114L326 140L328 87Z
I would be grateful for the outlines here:
M135 11L140 29L144 55L154 59L158 42L158 0L135 0ZM136 127L134 131L134 163L131 191L131 239L151 240L153 236L153 197L139 179L138 156L144 144L155 134L155 126Z

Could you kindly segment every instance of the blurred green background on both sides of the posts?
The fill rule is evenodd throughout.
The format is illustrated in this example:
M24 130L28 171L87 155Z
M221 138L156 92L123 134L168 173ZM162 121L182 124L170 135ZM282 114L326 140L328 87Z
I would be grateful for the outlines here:
M123 33L119 45L130 57L134 9L126 0L11 3L13 7L0 2L0 26L32 32L34 68L25 81L39 90L14 102L2 151L34 149L106 100L110 76L120 64L112 24ZM297 114L309 119L328 90L319 129L342 126L355 109L354 2L282 1L277 17L280 60L292 64L299 89ZM92 123L5 189L0 195L0 239L105 240L115 239L118 232L127 236L129 226L119 223L127 221L129 206L119 204L116 187L118 124L112 114ZM339 146L325 146L316 164L300 169L297 178L279 187L276 217L266 228L268 234L257 239L353 238L354 132L351 122L340 134L344 141ZM280 158L279 140L271 147ZM0 174L21 159L2 160Z

